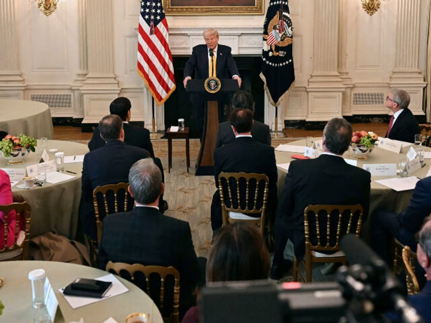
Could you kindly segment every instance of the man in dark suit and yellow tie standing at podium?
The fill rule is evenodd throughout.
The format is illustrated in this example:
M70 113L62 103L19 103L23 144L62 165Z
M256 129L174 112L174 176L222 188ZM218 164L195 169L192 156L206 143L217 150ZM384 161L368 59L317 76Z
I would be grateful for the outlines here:
M217 77L219 79L229 78L228 70L233 79L238 81L241 86L241 78L236 67L235 60L232 57L229 46L220 45L219 32L216 29L209 28L203 32L205 45L193 47L192 56L186 62L184 67L183 84L186 87L187 81L192 79L193 71L196 79L206 80L208 77ZM199 137L202 138L203 122L205 115L205 98L201 94L191 94L191 101L196 109L196 119L199 127ZM224 121L224 106L228 100L219 101L219 122Z

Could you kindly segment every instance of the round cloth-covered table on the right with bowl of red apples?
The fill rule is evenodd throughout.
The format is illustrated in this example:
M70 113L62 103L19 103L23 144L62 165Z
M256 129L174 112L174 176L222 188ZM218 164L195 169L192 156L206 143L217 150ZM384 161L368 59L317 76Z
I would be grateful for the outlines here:
M321 138L315 138L319 140ZM305 139L297 140L289 143L289 145L296 146L305 146ZM401 152L394 153L378 146L373 149L371 154L367 159L362 160L358 159L358 167L362 168L363 164L398 164L399 156L406 155L407 151L410 149L411 145L408 147L404 147L401 149ZM431 151L431 148L424 147L425 151ZM295 152L284 152L284 151L275 151L275 160L277 164L290 163L293 159L291 155L298 154ZM345 152L343 155L344 158L349 159L350 154L349 151ZM427 163L427 159L425 159L425 163ZM418 178L424 178L429 169L429 160L428 166L421 168L415 173L409 176L416 176ZM278 169L278 192L280 194L284 181L286 179L287 171L280 167ZM371 196L370 196L370 211L368 212L367 220L362 225L361 236L365 241L371 241L371 216L375 210L378 208L384 208L388 211L399 213L404 211L409 205L410 199L412 197L413 190L405 190L401 192L397 192L387 186L376 183L376 180L385 179L385 178L393 178L395 176L372 176L371 177ZM352 189L354 189L354 183L352 183Z

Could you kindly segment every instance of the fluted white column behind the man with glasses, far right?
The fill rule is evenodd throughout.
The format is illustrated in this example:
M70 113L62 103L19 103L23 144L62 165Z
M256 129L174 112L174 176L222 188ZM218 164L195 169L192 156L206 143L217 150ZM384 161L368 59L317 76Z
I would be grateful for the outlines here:
M396 4L395 66L389 86L408 91L410 110L423 115L423 88L426 83L418 68L420 0L398 0Z

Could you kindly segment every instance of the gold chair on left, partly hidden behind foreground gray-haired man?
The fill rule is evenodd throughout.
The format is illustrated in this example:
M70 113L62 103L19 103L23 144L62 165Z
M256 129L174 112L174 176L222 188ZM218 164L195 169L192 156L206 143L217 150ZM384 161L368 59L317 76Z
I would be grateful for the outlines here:
M119 209L120 212L122 211L128 211L128 198L129 198L129 183L117 183L117 184L108 184L103 186L97 186L93 191L93 205L95 209L95 215L96 215L96 228L97 228L97 241L93 239L89 240L90 245L90 258L91 258L91 265L96 266L97 264L97 247L99 245L99 242L102 238L102 220L101 215L103 216L108 215L110 210L112 208L109 208L110 203L112 203L112 199L110 199L111 195L113 196L113 205L114 205L114 212L111 213L117 213L118 212L118 193L122 190L124 190L124 202L123 202L123 208ZM103 203L100 201L100 198L98 200L98 197L103 197ZM121 197L123 195L121 194ZM103 205L102 205L103 204ZM100 209L101 207L102 209Z

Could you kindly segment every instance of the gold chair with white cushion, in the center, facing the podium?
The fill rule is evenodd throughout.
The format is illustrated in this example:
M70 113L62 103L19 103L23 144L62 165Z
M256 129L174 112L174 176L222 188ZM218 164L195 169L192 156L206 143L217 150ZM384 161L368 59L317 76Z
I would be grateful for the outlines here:
M223 225L236 221L248 221L256 223L263 235L268 177L265 174L257 173L222 172L219 175L219 190ZM243 213L259 214L260 217L252 217ZM271 232L271 221L268 220L267 222L268 232Z

